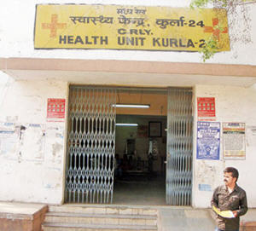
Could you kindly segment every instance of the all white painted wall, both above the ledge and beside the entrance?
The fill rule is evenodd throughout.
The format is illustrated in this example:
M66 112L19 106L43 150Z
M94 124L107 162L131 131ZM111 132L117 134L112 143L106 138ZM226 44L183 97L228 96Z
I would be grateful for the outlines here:
M102 3L124 5L162 5L187 7L189 0L157 2L137 0L30 0L4 1L0 8L0 57L29 58L67 58L67 59L103 59L125 61L177 61L201 62L198 53L186 52L150 52L121 50L35 50L33 48L33 28L35 20L35 4L37 3ZM256 5L250 4L251 36L253 43L232 43L230 52L214 56L212 63L256 65ZM240 26L241 27L241 26ZM230 33L232 30L230 29ZM86 84L86 83L84 83ZM222 85L196 85L196 97L215 97L216 121L245 122L247 126L256 125L256 89ZM20 152L2 153L0 155L0 200L16 200L60 204L63 197L65 123L49 123L46 121L46 105L48 98L67 99L66 82L50 81L14 81L0 72L0 122L15 124L40 124L45 129L44 152L39 157L32 153L38 146L23 145ZM196 112L196 108L195 108ZM195 116L196 122L196 116ZM55 130L54 130L55 128ZM58 130L57 130L58 129ZM53 138L55 136L55 138ZM194 137L196 143L196 136ZM26 140L26 139L25 139ZM27 140L26 140L27 141ZM30 148L31 147L31 148ZM33 149L34 148L34 149ZM194 148L196 146L194 145ZM194 150L194 185L193 205L207 207L212 192L199 191L200 183L209 184L212 190L222 183L224 167L233 165L240 171L238 184L247 191L248 205L256 206L255 187L252 176L256 174L256 141L247 136L246 160L197 160ZM23 155L24 154L24 155ZM16 156L15 156L16 155ZM25 156L25 157L24 157Z

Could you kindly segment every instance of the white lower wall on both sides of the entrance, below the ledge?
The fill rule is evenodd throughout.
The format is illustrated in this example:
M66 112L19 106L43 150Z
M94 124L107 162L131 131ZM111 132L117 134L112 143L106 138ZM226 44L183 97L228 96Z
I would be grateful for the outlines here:
M14 122L26 127L28 124L41 124L45 128L44 152L41 152L39 158L38 153L31 151L37 151L39 146L32 140L23 149L16 149L17 152L1 153L3 149L0 147L0 200L61 204L64 189L65 123L47 122L46 105L48 98L67 99L67 83L14 81L4 74L1 74L0 79L0 122ZM255 207L252 176L256 174L256 136L252 136L249 127L256 126L256 86L196 85L194 90L195 103L197 97L215 97L216 121L246 123L247 147L245 160L224 160L221 137L220 160L198 160L195 133L193 206L208 207L213 189L223 183L224 168L235 166L240 172L238 184L247 191L248 205ZM200 191L199 184L210 185L212 191Z

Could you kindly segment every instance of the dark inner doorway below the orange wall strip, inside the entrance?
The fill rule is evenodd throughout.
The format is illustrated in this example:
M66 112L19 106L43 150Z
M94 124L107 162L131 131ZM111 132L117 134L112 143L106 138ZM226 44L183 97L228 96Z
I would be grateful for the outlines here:
M116 115L113 204L166 205L166 116Z

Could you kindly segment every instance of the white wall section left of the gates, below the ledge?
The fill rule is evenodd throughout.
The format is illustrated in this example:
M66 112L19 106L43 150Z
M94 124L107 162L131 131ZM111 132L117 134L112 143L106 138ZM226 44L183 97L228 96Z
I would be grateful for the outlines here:
M67 83L14 81L2 72L0 80L0 123L26 127L12 141L0 134L0 200L60 204L65 122L47 122L46 107L48 98L67 98Z

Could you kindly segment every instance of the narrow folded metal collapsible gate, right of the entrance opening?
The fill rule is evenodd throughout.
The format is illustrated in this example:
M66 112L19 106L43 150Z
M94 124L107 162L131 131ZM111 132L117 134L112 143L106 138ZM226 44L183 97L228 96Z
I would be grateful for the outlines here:
M191 205L192 90L168 90L166 203Z

